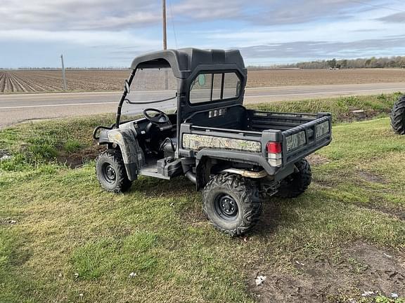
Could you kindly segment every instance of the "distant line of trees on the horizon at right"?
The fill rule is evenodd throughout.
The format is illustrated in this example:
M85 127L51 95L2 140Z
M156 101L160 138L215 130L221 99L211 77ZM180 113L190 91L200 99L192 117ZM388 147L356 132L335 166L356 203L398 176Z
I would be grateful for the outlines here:
M405 57L397 56L390 58L358 58L358 59L332 59L318 60L310 62L297 62L288 65L278 65L283 68L301 68L301 69L328 69L328 68L386 68L398 67L405 68Z

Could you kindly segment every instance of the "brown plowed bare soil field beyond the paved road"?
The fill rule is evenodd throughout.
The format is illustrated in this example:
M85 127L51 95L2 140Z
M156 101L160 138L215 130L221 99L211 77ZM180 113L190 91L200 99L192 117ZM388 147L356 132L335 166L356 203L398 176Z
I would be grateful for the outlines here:
M68 70L68 90L121 90L129 70ZM398 83L405 69L250 69L248 87ZM0 93L63 90L60 70L0 70Z

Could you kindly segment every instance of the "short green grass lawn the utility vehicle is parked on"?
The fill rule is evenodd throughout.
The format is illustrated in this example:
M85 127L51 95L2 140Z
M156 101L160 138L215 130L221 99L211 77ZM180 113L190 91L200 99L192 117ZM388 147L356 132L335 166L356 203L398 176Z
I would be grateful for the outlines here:
M255 302L253 271L295 275L292 260L356 241L405 253L405 137L387 118L336 124L309 190L266 203L247 241L214 231L184 178L140 177L115 195L98 186L93 161L70 169L55 160L91 147L92 128L112 120L0 131L0 149L13 155L0 162L0 302Z

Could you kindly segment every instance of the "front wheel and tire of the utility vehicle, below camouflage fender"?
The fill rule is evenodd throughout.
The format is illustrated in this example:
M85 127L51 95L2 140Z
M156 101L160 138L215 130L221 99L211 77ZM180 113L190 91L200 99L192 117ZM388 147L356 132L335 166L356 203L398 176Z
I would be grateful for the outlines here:
M118 149L107 149L96 159L96 175L106 191L122 193L131 187L122 155Z

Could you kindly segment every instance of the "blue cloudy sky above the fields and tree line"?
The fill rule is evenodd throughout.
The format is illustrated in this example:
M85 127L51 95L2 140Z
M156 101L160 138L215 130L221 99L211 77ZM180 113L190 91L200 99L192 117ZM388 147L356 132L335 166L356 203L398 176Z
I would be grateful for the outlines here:
M405 55L404 0L167 0L168 48L246 65ZM160 0L0 0L0 68L129 67L162 49Z

